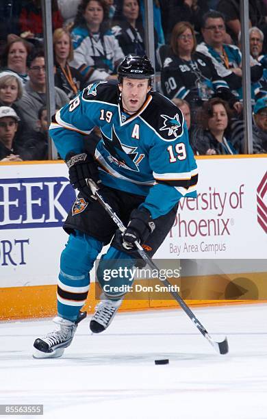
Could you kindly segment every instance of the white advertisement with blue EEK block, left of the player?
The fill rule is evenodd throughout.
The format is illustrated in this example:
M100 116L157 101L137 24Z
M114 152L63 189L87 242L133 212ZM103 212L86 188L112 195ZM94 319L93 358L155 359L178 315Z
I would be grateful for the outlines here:
M1 287L57 281L75 191L65 164L0 166Z

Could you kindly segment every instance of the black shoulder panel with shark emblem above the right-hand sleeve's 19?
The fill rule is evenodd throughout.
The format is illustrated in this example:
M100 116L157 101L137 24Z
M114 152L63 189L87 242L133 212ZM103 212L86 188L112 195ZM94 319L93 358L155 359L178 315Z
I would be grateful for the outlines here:
M179 107L158 92L152 92L152 101L141 116L157 136L174 141L183 135L183 114Z

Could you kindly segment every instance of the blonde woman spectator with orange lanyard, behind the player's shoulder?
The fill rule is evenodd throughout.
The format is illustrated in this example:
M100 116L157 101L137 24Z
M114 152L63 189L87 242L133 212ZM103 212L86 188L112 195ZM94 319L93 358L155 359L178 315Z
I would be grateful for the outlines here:
M84 77L77 68L68 65L73 60L71 35L62 27L53 33L53 52L55 62L55 86L64 90L73 99L84 88Z

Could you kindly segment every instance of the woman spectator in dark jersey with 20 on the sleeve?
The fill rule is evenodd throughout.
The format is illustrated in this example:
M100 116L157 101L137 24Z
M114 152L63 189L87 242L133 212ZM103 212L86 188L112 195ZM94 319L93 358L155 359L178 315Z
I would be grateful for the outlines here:
M162 68L162 90L167 97L186 99L194 120L198 108L214 96L228 101L241 112L241 103L226 81L220 79L212 60L196 51L196 37L190 23L175 25L170 47Z

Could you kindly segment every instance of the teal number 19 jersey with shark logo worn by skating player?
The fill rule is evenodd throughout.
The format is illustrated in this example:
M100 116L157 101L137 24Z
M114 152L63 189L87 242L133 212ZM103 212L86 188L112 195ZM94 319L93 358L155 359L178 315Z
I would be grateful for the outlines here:
M119 104L118 86L91 84L53 117L49 134L64 158L83 151L84 136L98 126L94 157L103 185L146 196L153 218L169 212L182 196L196 197L197 167L183 114L151 92L131 116Z

